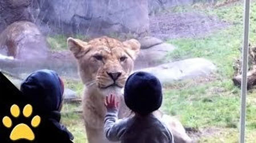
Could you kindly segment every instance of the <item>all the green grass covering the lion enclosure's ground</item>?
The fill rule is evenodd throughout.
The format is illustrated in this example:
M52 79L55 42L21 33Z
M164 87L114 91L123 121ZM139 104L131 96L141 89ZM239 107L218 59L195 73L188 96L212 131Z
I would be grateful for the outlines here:
M217 72L209 80L178 81L164 86L162 110L177 116L185 127L205 131L199 142L238 142L240 120L240 89L232 82L233 60L240 57L243 34L243 3L212 8L203 4L191 7L174 7L172 12L199 11L218 16L229 26L201 38L180 38L168 40L178 48L166 57L180 60L206 58L217 66ZM251 3L250 43L256 44L256 3ZM85 37L79 37L85 38ZM66 50L67 37L48 37L52 50ZM81 96L81 81L66 79L65 85ZM246 142L256 142L256 96L255 90L248 92L246 110ZM85 128L81 116L81 105L65 104L62 122L75 136L75 142L86 142ZM207 132L213 129L213 132Z

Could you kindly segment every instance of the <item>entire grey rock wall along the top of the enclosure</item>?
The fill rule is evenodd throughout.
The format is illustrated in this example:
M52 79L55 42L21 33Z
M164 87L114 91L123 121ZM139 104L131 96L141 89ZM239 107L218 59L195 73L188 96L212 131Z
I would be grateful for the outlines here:
M195 0L1 0L0 32L15 21L31 21L44 34L147 34L148 14Z

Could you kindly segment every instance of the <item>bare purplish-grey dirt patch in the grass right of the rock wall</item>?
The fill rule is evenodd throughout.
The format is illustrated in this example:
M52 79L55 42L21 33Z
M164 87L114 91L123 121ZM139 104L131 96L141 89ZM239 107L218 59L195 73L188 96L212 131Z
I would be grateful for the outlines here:
M163 40L205 36L227 26L228 23L217 17L196 12L167 13L150 17L151 36Z

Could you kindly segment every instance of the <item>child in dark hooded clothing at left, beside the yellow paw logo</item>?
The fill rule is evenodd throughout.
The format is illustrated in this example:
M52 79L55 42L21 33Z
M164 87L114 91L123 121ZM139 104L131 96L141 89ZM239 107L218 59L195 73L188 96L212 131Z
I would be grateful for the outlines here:
M55 71L31 73L20 85L20 91L44 118L34 142L72 142L72 133L60 124L64 84Z

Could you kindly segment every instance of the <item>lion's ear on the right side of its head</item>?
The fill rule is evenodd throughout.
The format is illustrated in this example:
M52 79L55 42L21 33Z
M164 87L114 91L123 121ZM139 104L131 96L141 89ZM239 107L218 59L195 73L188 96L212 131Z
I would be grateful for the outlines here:
M139 50L141 49L141 44L139 41L131 39L123 42L123 45L125 46L126 53L129 54L133 60L135 60L139 54Z

